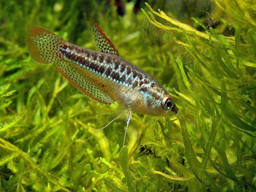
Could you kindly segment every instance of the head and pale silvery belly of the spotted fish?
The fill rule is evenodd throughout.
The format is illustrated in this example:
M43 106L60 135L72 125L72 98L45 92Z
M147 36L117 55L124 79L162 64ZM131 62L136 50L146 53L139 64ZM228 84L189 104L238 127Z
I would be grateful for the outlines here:
M151 81L149 85L142 84L141 87L119 86L114 92L115 100L141 114L167 117L178 113L179 110L169 93L154 79Z

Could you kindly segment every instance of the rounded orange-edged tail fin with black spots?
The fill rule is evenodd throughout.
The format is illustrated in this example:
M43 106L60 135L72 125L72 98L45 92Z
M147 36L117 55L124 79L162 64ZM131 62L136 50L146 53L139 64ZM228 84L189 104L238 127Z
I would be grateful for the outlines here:
M60 50L65 43L64 39L43 27L33 26L28 33L28 52L38 63L61 61Z

